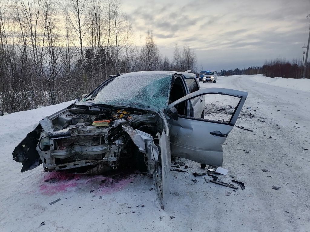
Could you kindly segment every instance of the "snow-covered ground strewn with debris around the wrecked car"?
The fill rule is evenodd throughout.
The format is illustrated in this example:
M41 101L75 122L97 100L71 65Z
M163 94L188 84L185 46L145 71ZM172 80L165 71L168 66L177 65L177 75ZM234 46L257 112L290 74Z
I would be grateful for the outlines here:
M254 132L235 127L228 135L223 167L229 171L219 178L231 183L234 177L246 189L194 178L200 165L180 159L189 168L171 172L162 210L149 175L90 177L43 172L42 166L20 173L11 152L38 120L67 102L0 117L0 230L309 231L310 151L303 148L310 149L310 80L237 75L200 85L249 92L237 125Z

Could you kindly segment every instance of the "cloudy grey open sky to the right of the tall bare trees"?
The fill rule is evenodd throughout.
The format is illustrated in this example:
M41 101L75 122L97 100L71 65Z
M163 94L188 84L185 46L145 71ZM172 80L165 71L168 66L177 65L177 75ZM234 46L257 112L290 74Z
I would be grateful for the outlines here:
M270 58L302 59L310 0L123 0L137 45L153 31L162 55L189 45L198 67L220 71L262 65Z

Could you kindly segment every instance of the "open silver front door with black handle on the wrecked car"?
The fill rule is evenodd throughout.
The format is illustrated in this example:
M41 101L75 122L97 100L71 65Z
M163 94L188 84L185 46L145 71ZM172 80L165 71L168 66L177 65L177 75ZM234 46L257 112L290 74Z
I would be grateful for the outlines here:
M212 101L212 98L208 97L209 94L221 95L219 97L225 95L226 97L237 99L233 113L225 114L230 119L225 121L224 119L219 120L220 118L216 118L216 116L210 119L194 118L178 114L178 110L176 109L180 103L202 95L206 99L205 113L209 114L207 112L209 110L208 103ZM233 89L204 88L169 104L165 113L170 124L171 155L193 160L201 164L222 166L222 145L228 133L234 127L247 95L247 92ZM215 111L218 111L218 109L215 109Z

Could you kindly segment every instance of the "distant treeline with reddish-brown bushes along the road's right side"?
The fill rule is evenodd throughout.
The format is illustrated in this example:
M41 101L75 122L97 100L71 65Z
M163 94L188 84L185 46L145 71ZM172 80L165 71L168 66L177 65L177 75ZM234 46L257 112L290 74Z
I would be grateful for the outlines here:
M309 64L309 63L308 63ZM219 75L230 76L230 75L253 75L263 74L268 77L283 77L283 78L302 78L303 66L302 62L293 60L288 62L285 59L276 59L265 61L263 66L253 66L243 69L230 69L221 70ZM307 66L305 78L310 78L310 66Z

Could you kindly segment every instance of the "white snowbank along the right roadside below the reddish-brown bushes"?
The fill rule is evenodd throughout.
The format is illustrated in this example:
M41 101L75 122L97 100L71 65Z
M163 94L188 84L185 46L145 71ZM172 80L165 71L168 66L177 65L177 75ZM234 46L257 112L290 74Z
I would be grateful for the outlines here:
M263 76L262 74L250 76L250 79L259 83L310 92L310 79L294 79L282 77L271 78Z

